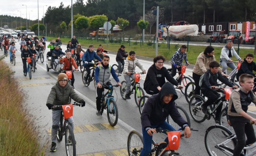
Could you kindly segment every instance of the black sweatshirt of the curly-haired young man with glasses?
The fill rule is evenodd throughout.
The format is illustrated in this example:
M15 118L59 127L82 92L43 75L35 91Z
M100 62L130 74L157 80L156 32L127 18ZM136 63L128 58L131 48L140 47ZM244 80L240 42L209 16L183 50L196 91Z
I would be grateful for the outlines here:
M158 86L162 87L162 85L164 85L165 78L173 85L178 85L178 82L170 75L165 67L157 69L155 64L153 64L151 67L149 67L146 74L144 90L149 91L150 87L153 87L157 90Z

